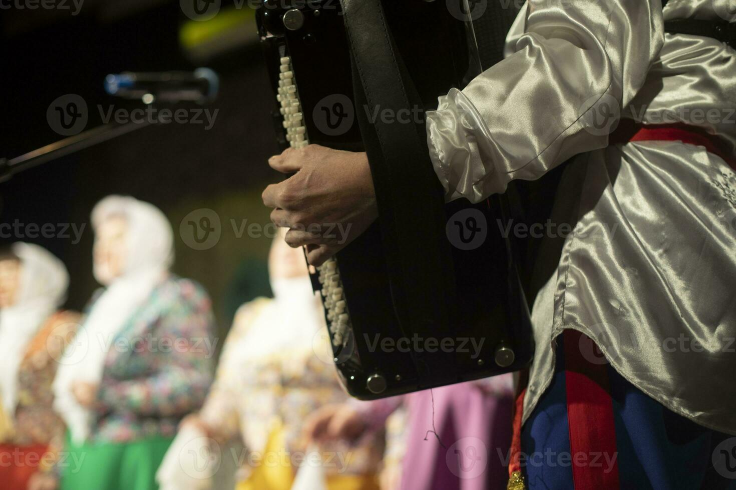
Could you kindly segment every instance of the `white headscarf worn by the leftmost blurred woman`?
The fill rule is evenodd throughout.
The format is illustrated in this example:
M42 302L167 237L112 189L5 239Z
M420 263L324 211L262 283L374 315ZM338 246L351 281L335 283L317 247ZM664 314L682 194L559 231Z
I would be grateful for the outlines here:
M66 299L69 275L64 264L46 249L16 242L11 247L21 262L15 304L0 311L0 395L13 417L18 403L18 368L29 342Z

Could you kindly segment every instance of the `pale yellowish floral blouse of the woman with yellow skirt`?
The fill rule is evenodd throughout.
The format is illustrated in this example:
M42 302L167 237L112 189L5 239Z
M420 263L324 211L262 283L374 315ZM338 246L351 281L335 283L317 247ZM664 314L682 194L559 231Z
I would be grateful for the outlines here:
M262 353L243 359L238 345L248 339L250 328L273 300L259 298L241 306L233 322L233 328L225 341L219 361L215 383L205 406L202 419L219 439L240 435L247 450L261 453L269 436L276 428L282 430L283 453L293 455L305 450L301 440L302 424L317 408L328 403L344 403L348 395L337 379L331 356L318 356L327 352L328 337L315 336L309 345L292 346L276 352ZM278 325L272 325L278 328ZM317 345L325 342L325 345ZM367 475L377 472L383 452L383 433L372 433L355 443L335 442L321 447L322 453L348 455L345 464L334 461L325 463L325 471L343 475ZM250 475L251 461L243 458L239 478Z

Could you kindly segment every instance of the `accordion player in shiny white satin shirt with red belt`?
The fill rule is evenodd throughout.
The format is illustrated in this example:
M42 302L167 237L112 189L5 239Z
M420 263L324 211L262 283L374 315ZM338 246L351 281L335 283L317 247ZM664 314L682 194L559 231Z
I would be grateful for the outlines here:
M736 476L736 12L732 0L662 3L528 0L506 59L427 113L447 200L478 202L570 159L552 222L573 233L537 256L509 488ZM365 154L311 145L269 163L296 172L263 201L300 228L286 240L309 245L311 262L344 244L300 231L310 223L352 223L356 236L375 219Z

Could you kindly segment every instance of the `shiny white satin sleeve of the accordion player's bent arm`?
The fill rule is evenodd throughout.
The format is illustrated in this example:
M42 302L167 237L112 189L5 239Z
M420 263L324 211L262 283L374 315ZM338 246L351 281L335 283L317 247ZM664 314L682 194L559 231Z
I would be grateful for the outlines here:
M505 60L427 113L446 201L478 202L604 148L613 118L645 82L664 43L662 0L528 0Z

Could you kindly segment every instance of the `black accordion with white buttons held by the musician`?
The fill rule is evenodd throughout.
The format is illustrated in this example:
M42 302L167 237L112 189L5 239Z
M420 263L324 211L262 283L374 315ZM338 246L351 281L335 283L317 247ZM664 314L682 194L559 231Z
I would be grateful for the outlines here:
M481 69L477 19L456 3L266 0L257 13L280 147L368 155L378 220L313 271L339 378L361 400L520 370L533 353L505 196L445 203L428 155L424 112Z

